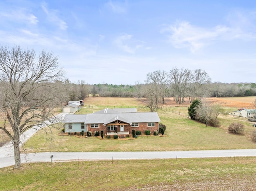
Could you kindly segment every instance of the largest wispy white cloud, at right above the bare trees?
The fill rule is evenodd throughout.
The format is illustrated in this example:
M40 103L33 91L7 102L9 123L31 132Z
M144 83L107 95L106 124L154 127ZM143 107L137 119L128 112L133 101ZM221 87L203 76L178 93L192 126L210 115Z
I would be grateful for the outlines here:
M205 29L192 26L189 22L178 22L174 26L168 26L162 32L170 32L169 42L176 48L188 48L192 53L201 49L216 37L226 33L229 28L216 26L212 29Z

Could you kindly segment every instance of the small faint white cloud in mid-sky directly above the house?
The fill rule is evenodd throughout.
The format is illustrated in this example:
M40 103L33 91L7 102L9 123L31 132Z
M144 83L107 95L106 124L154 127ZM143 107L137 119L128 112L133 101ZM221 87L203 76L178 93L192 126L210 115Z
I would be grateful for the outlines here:
M114 43L123 51L128 52L128 53L135 53L137 49L142 47L141 44L135 44L138 43L138 41L134 41L132 39L132 35L129 34L124 34L121 36L118 36L115 40ZM132 44L132 45L127 45L127 44Z

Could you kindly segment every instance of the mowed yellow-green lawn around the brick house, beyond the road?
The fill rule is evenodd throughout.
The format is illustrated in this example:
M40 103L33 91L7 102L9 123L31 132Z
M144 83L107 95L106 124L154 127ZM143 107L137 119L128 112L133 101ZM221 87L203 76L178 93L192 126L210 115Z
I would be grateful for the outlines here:
M79 114L92 113L96 110L100 109L83 108ZM138 109L138 111L147 110ZM53 134L50 132L46 134L41 130L30 138L24 145L25 152L172 151L256 148L256 144L251 142L250 138L250 133L254 128L247 121L241 121L245 124L246 135L241 136L228 133L228 125L234 121L240 121L240 118L220 116L221 127L213 128L183 117L177 112L173 112L173 110L170 112L158 110L158 114L161 122L167 126L166 137L139 136L137 139L120 140L108 140L106 138L100 140L96 137L76 138L75 136L59 136L60 127L58 127L58 130L52 129ZM50 139L51 136L53 136L52 140Z

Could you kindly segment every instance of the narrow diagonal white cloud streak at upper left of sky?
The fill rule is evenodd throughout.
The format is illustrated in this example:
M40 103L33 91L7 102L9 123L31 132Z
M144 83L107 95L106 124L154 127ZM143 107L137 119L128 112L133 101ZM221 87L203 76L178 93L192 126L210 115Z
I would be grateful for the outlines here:
M42 5L41 7L42 10L44 10L44 12L46 13L47 18L51 23L56 24L61 30L66 30L68 28L66 22L64 22L58 17L57 10L48 10L46 8L46 5Z

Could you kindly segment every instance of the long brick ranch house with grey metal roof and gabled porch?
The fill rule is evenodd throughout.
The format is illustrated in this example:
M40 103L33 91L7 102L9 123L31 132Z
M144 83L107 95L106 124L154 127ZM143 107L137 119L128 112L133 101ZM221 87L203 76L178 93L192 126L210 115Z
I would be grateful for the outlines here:
M105 135L125 135L132 134L132 130L159 131L158 124L160 118L157 112L137 112L136 108L106 108L92 114L67 114L62 121L65 123L65 131L84 132L103 130Z

